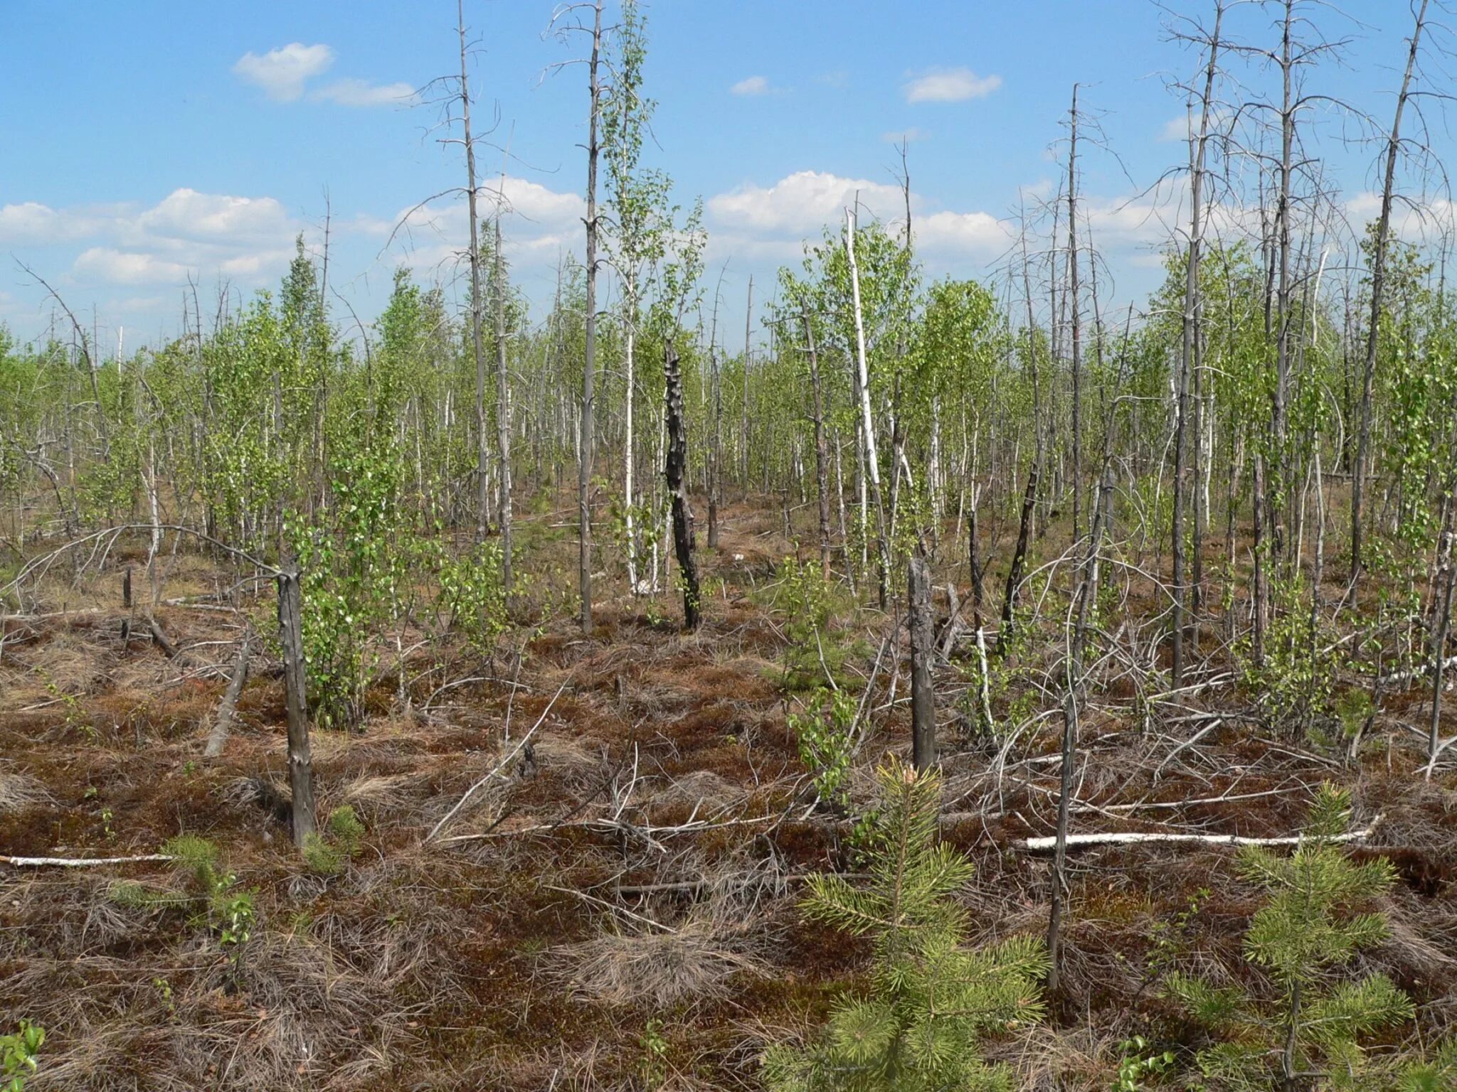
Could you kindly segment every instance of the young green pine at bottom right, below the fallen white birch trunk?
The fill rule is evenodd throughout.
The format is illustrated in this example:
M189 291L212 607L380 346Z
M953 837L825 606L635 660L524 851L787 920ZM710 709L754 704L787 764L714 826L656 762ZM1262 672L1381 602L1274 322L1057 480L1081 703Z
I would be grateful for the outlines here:
M1217 989L1171 974L1167 993L1220 1040L1198 1056L1220 1088L1275 1089L1292 1075L1321 1075L1323 1088L1377 1088L1390 1076L1361 1040L1413 1015L1410 999L1383 974L1352 977L1356 955L1387 936L1380 913L1361 907L1390 890L1389 860L1351 862L1335 839L1351 818L1349 794L1326 785L1300 846L1281 856L1240 852L1243 878L1266 893L1244 935L1244 955L1269 976L1273 997Z

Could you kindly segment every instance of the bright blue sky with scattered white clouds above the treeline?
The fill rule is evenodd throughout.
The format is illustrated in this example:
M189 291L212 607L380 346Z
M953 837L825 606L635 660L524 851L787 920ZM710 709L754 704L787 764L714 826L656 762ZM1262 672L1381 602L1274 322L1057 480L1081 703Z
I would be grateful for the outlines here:
M1170 6L1202 16L1209 3ZM1198 58L1167 41L1152 3L656 0L647 13L647 92L659 100L648 159L683 204L705 199L708 261L714 278L727 262L730 300L750 274L762 297L798 240L857 191L871 211L898 214L890 134L911 135L928 272L988 275L1018 197L1036 201L1059 181L1074 82L1116 153L1090 147L1081 181L1115 278L1106 291L1136 300L1157 282L1167 230L1151 213L1176 217L1177 192L1138 194L1186 156L1182 100L1166 84ZM1389 124L1406 1L1313 15L1349 44L1310 89ZM538 304L559 256L581 249L586 70L549 68L583 47L546 35L551 16L541 0L466 0L478 130L498 109L491 138L513 153L510 255ZM1273 42L1272 19L1246 9L1236 31ZM457 290L459 202L431 205L386 245L408 208L462 183L459 149L430 132L439 111L408 99L457 64L450 0L0 0L0 322L20 336L42 332L50 307L17 262L95 316L103 348L121 326L128 347L156 342L178 332L189 275L204 297L220 280L243 296L275 284L297 232L321 243L325 192L331 282L366 322L402 262ZM1247 93L1269 83L1233 67ZM1351 124L1317 119L1316 149L1359 218L1375 149L1342 143ZM1441 151L1450 135L1434 141ZM482 150L482 173L500 166Z

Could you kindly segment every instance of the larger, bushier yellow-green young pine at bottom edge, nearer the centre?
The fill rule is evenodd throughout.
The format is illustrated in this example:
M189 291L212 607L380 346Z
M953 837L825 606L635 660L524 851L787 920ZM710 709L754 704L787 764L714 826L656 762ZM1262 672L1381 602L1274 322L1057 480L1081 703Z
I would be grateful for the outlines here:
M777 1092L1010 1092L1011 1073L985 1061L981 1041L1040 1016L1042 942L966 948L969 920L954 895L972 863L938 840L940 775L890 761L877 779L868 885L812 877L803 904L812 922L873 939L870 992L842 996L810 1045L771 1047L766 1083Z

